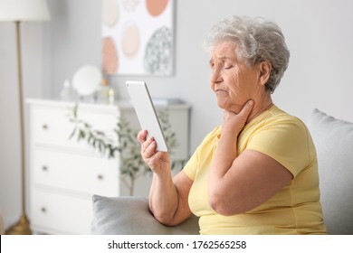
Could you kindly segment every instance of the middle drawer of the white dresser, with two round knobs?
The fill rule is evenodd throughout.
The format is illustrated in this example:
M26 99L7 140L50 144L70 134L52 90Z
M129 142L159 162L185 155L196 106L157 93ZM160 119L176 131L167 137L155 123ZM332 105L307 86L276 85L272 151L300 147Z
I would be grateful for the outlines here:
M78 155L35 148L34 184L100 195L119 195L118 158Z

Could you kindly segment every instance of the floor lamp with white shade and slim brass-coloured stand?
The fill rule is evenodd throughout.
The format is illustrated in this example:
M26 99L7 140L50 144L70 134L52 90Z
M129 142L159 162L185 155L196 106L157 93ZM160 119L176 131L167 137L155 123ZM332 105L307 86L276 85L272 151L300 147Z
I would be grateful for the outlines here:
M16 28L17 71L18 71L18 100L20 108L21 135L21 187L22 187L22 215L20 220L6 234L32 234L30 223L25 213L25 143L24 143L24 95L22 82L21 58L21 23L27 21L44 21L50 18L46 0L0 0L0 21L14 22Z

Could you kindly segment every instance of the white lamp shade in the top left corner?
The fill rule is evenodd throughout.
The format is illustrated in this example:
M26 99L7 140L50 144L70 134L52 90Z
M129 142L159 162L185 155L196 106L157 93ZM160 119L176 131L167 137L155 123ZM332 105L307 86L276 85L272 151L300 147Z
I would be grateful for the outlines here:
M0 21L43 21L50 19L46 0L0 0Z

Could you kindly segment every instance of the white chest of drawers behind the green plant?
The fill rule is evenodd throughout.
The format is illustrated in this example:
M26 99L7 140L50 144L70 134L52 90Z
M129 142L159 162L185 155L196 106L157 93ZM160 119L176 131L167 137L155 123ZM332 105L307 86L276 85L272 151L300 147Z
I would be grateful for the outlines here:
M73 125L68 114L74 103L42 99L28 99L26 103L29 108L28 188L32 230L49 234L90 234L92 194L129 194L119 180L119 159L108 159L84 141L69 139ZM189 107L175 105L167 109L179 144L176 158L186 159ZM129 104L79 105L80 118L104 131L116 126L120 114L138 127L134 109ZM139 179L137 195L148 195L149 179Z

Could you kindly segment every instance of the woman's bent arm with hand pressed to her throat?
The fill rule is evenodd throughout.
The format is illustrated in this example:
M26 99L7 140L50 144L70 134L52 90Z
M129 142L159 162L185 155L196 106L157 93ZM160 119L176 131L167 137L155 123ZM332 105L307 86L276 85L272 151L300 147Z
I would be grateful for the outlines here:
M222 135L209 173L209 204L220 214L250 211L290 183L292 174L268 155L245 150L237 155L237 138L252 105L239 114L224 112Z

